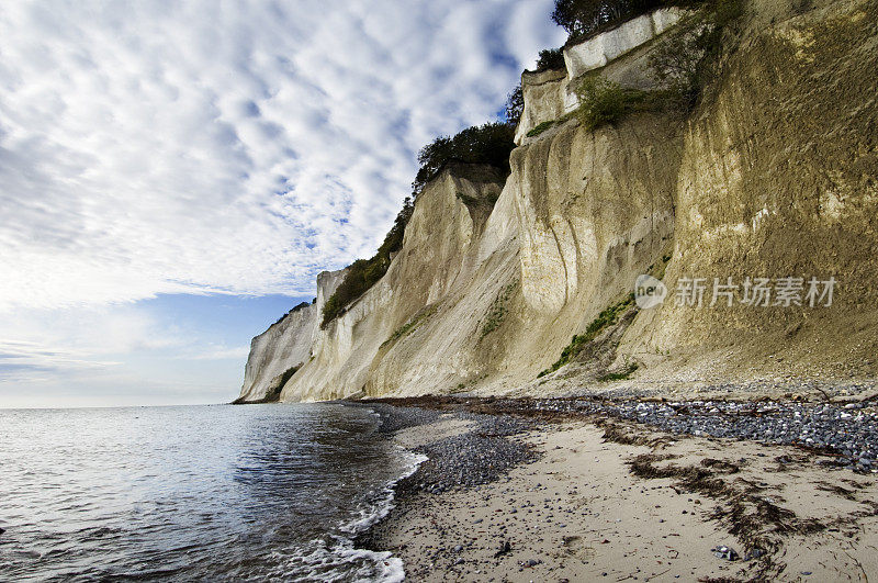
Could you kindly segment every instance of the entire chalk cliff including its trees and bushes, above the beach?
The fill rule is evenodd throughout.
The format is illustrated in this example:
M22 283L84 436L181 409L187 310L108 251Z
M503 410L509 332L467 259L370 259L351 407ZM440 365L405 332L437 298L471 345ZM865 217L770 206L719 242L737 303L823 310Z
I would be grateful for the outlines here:
M254 338L239 402L874 381L878 1L552 18L571 40L507 120L421 150L375 256Z

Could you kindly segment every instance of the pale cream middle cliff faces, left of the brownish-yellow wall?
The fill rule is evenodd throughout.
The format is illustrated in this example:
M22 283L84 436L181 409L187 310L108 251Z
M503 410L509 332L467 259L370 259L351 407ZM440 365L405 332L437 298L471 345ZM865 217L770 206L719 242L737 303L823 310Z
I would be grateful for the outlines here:
M385 277L317 332L282 400L507 392L536 378L668 246L669 127L570 122L514 153L503 191L491 169L448 168Z

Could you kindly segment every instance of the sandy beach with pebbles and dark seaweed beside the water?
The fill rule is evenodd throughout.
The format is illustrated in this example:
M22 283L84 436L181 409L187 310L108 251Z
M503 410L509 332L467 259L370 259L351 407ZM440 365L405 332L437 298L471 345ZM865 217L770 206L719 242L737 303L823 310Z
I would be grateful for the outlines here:
M733 428L746 435L823 405L711 402L699 412L703 402L689 402L662 427L626 417L657 422L651 414L669 406L661 402L360 403L376 407L382 433L429 458L397 483L390 514L357 540L401 558L408 581L878 575L871 466L828 447L731 438ZM815 423L844 414L868 428L873 405L856 406L832 405ZM731 415L729 407L753 411ZM720 416L731 421L717 423ZM729 436L693 435L700 417ZM871 442L869 430L860 437Z

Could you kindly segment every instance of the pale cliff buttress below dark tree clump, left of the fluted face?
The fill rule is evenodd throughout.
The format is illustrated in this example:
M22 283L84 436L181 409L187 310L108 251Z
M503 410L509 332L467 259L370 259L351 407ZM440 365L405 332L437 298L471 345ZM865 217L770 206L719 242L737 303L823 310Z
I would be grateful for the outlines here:
M387 367L395 371L397 367L404 368L397 372L405 379L423 378L425 382L447 369L444 374L460 382L466 375L460 372L465 363L452 363L455 359L449 358L448 346L425 348L432 354L421 355L423 358L409 354L412 346L405 350L401 347L440 319L439 310L449 307L449 298L473 282L479 268L479 244L500 188L502 177L495 170L465 165L447 168L428 184L418 197L403 248L387 273L318 333L314 359L290 380L282 397L335 399L362 391L383 393L387 389L385 381L393 382L394 388L404 384L396 372L385 372ZM394 338L397 330L419 314L423 318L417 326ZM479 310L476 315L468 317L475 319L481 315ZM437 341L453 345L460 334ZM420 349L415 351L420 354ZM432 379L430 382L435 382Z

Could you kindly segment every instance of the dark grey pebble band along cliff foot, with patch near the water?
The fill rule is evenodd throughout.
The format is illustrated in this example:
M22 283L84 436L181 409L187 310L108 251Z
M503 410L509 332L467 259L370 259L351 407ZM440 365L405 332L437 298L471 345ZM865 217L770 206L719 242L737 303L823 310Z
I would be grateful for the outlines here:
M503 399L418 397L383 400L369 406L382 415L382 431L431 423L442 412L475 422L460 436L419 448L430 462L406 489L441 492L495 480L533 453L507 439L533 428L540 417L632 421L678 435L792 445L823 456L818 463L878 473L878 403L792 401L643 401L599 397ZM477 413L476 413L477 412Z

